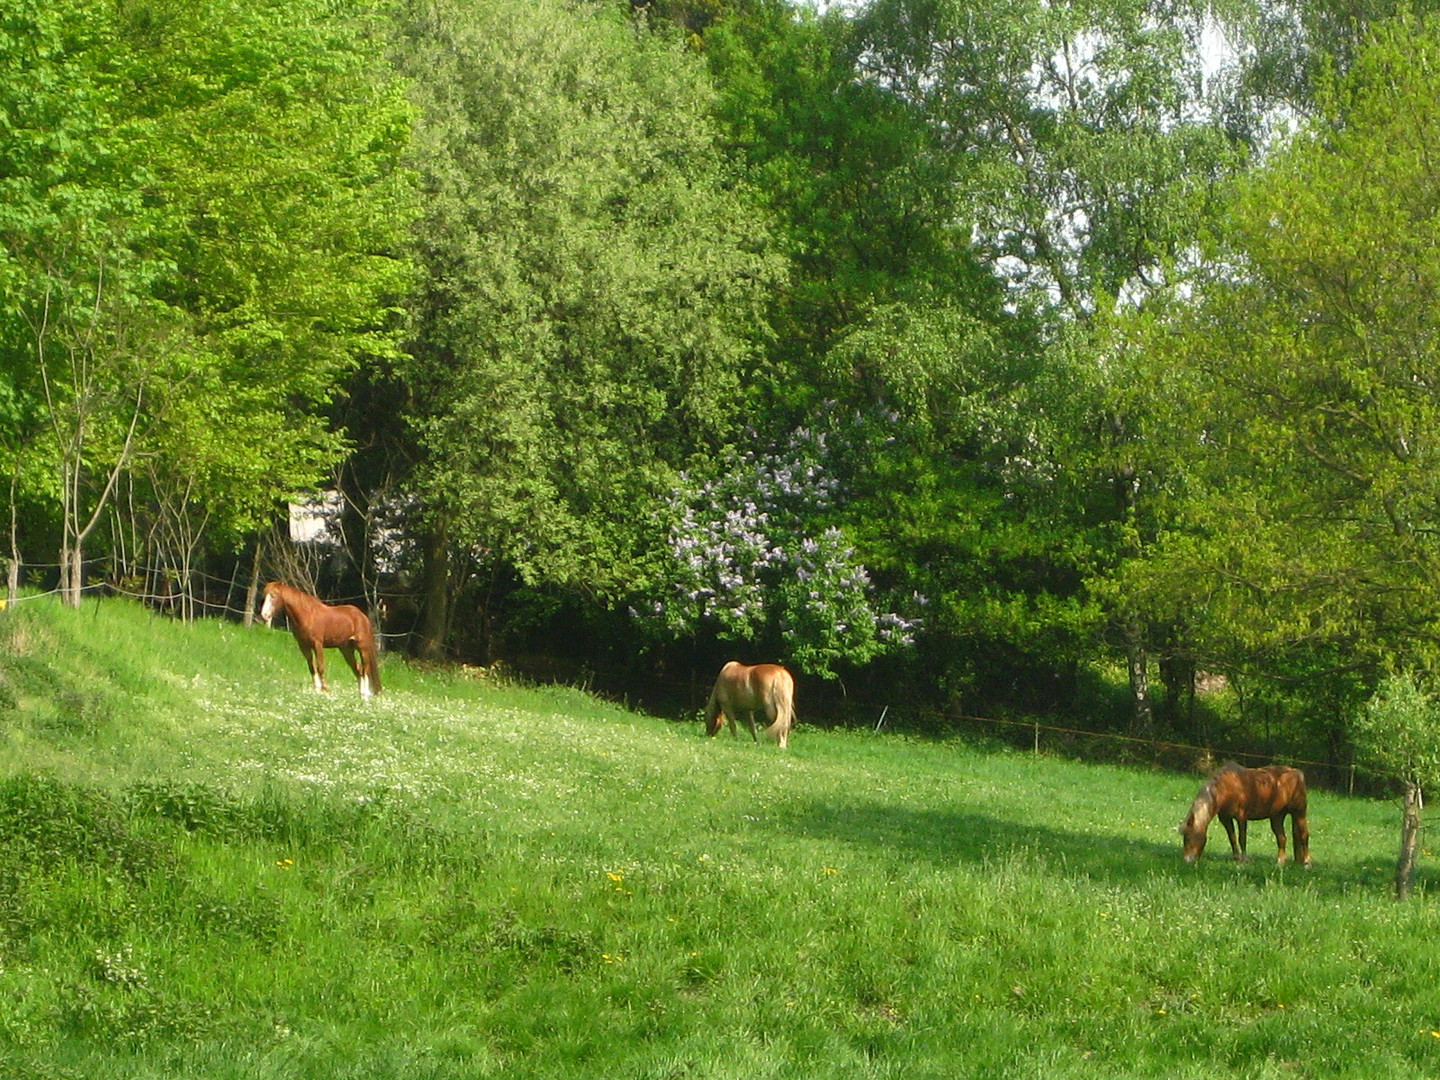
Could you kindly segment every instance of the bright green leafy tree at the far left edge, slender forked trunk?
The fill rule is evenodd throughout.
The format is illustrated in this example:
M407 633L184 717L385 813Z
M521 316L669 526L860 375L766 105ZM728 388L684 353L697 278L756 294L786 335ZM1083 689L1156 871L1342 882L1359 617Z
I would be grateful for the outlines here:
M161 215L143 194L153 127L122 115L104 4L20 3L3 33L0 369L13 422L42 420L12 426L7 449L12 477L29 461L32 487L58 504L62 589L78 603L84 543L179 337L153 295L164 271Z

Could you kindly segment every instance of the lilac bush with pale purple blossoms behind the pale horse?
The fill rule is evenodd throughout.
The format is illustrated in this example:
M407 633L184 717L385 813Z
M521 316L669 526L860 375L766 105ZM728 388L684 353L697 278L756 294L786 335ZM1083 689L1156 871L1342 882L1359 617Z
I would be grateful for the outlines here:
M710 626L729 641L779 639L816 675L913 641L916 624L878 611L876 588L834 517L829 435L799 428L783 446L734 452L719 474L681 475L671 494L671 592L652 615L672 632ZM919 598L916 598L919 599Z

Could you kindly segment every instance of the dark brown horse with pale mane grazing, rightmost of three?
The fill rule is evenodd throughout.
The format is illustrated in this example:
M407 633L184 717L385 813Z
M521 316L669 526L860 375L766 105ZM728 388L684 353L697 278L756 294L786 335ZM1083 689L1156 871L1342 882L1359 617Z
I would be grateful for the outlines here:
M1274 842L1280 848L1279 863L1284 863L1284 815L1290 815L1295 834L1295 858L1310 865L1310 828L1305 822L1305 773L1283 765L1246 769L1234 762L1221 765L1215 775L1195 795L1189 815L1179 827L1185 837L1185 861L1194 863L1205 850L1210 819L1220 818L1230 837L1230 851L1237 863L1246 855L1246 825L1251 818L1269 818ZM1236 822L1240 822L1240 842L1236 842Z

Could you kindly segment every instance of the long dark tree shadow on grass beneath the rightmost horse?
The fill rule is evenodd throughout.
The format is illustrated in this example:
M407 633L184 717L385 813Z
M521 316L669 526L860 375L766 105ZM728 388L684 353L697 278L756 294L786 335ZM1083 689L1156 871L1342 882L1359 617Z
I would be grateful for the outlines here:
M1237 864L1217 825L1201 860L1181 860L1179 834L1171 844L1116 837L1083 825L1063 828L1050 824L1020 824L972 809L906 808L871 801L811 801L786 822L791 832L811 840L880 848L901 861L923 860L935 865L982 864L1027 851L1066 874L1084 874L1097 881L1135 884L1155 874L1175 880L1192 877L1253 881L1257 887L1283 884L1312 887L1320 894L1342 896L1352 890L1385 893L1392 888L1394 861L1385 854L1369 858L1326 858L1312 841L1316 867L1305 871L1274 861L1274 838L1264 821L1250 825L1250 861ZM1287 831L1289 834L1289 831ZM1440 870L1421 867L1416 891L1440 894Z

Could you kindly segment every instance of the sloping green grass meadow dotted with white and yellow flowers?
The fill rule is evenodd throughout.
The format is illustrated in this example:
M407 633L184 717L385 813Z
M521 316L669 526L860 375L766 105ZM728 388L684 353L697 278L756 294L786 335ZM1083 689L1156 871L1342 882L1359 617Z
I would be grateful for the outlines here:
M1194 776L384 675L0 615L0 1076L1440 1074L1394 805L1187 867Z

